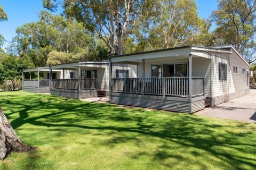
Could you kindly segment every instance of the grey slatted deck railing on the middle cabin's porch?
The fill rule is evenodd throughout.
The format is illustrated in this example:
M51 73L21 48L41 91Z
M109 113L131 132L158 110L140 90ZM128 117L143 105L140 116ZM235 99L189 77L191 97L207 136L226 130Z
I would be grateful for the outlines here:
M52 79L51 88L69 90L96 89L97 79Z

